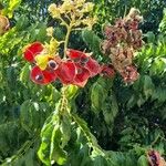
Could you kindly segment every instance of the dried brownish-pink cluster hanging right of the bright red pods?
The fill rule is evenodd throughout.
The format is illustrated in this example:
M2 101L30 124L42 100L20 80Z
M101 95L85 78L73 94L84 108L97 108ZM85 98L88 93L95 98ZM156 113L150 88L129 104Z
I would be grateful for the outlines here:
M139 11L132 8L125 18L104 28L106 40L102 43L103 52L110 55L114 69L125 82L133 82L138 77L133 58L135 51L143 45L142 31L138 30L142 20Z

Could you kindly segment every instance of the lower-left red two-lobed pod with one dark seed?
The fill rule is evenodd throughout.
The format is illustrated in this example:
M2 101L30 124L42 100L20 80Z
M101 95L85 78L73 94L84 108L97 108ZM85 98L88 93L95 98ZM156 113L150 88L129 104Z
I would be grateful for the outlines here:
M55 81L56 73L52 70L42 71L38 65L35 65L31 71L31 80L37 84L49 84Z

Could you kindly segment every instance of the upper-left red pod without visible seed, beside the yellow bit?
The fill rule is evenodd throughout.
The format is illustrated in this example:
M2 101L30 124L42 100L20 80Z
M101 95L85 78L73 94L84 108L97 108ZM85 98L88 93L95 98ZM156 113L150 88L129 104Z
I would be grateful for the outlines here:
M43 51L43 45L40 42L34 42L31 45L27 46L24 50L24 59L29 62L34 62L35 55L40 54Z

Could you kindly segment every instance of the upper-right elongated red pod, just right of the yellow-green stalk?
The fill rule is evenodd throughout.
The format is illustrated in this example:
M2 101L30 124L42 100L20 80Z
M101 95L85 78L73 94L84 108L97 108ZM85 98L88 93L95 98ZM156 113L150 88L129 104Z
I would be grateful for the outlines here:
M97 63L97 61L92 59L84 52L69 49L66 54L75 63L83 66L84 69L87 69L90 71L91 77L100 73L100 64Z

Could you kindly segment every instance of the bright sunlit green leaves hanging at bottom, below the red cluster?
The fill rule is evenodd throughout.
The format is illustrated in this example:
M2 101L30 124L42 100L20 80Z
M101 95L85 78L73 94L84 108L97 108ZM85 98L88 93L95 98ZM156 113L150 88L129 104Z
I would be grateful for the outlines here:
M42 143L40 145L38 155L40 159L50 166L54 163L63 165L66 162L66 152L64 146L70 141L70 122L68 117L62 116L60 121L59 114L51 115L41 132Z

